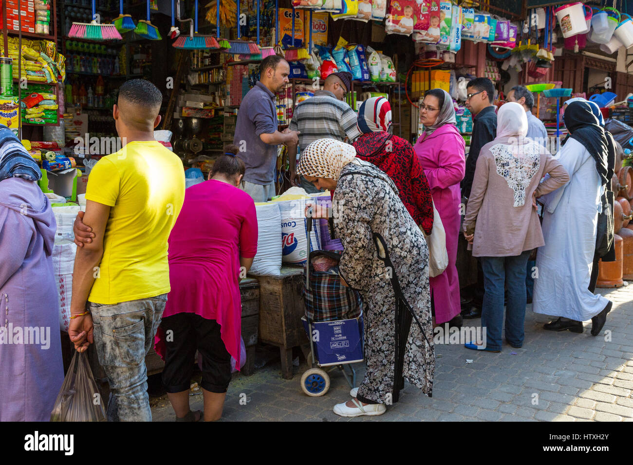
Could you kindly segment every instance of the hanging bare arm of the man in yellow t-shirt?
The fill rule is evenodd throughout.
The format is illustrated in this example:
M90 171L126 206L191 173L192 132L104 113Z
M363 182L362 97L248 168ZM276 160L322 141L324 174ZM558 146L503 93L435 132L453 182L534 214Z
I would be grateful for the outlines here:
M94 280L99 276L99 264L103 257L103 235L110 218L110 206L94 201L86 201L84 223L89 225L94 234L92 242L84 243L77 248L75 268L73 269L73 294L70 301L71 316L85 312L86 302ZM70 320L68 328L70 340L77 350L87 349L92 344L92 318L90 315L78 316ZM83 349L85 347L85 349Z

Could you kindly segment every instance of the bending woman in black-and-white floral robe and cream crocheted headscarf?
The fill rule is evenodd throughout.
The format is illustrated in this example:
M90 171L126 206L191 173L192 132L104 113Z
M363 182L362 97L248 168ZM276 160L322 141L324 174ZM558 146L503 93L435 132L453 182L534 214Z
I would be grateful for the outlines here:
M306 147L297 173L319 189L335 190L334 232L345 249L341 279L365 302L367 373L358 391L352 390L353 399L337 404L334 412L380 415L385 404L398 400L404 378L430 397L435 354L429 249L396 185L356 158L354 147L334 139Z

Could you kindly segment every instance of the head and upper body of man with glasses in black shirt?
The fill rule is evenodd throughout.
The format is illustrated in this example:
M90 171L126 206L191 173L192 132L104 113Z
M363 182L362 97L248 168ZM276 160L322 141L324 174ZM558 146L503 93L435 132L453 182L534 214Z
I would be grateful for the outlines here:
M468 98L466 107L473 114L473 135L470 138L470 149L466 159L466 175L461 181L461 195L470 197L475 166L481 147L497 137L497 114L494 100L494 85L488 78L475 78L466 86Z

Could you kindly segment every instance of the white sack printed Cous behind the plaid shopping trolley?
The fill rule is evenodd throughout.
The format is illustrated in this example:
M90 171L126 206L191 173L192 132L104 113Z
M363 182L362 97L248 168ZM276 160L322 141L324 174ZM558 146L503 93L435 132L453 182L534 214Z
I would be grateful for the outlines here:
M308 247L308 225L305 215L306 200L297 199L278 202L281 212L282 261L284 263L306 263ZM321 233L316 221L313 223L310 239L310 250L320 250Z

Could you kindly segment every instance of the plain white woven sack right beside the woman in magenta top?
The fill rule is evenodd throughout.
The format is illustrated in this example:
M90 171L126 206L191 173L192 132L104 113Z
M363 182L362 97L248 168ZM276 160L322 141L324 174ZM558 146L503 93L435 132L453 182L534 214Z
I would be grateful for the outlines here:
M256 205L257 254L249 270L254 276L279 276L281 274L281 214L279 203Z

